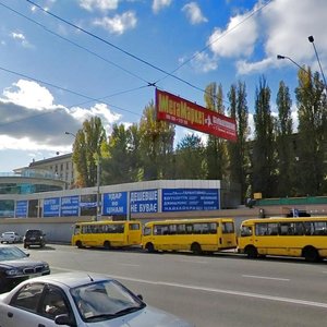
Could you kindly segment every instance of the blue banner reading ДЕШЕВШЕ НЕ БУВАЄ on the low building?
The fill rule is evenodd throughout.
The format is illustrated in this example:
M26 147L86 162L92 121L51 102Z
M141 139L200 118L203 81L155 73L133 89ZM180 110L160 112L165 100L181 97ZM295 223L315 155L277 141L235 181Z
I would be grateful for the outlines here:
M158 213L158 190L130 192L131 214Z

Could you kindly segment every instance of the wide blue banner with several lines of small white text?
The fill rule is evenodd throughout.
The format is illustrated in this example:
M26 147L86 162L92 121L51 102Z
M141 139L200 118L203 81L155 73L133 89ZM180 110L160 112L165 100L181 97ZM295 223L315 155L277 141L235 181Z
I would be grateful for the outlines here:
M217 189L164 189L164 211L197 211L219 209Z

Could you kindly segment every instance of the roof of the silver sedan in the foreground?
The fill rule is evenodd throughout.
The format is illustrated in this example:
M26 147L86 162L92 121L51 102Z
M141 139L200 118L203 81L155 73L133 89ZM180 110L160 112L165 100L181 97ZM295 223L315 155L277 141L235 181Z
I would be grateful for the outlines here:
M50 282L61 287L65 286L68 288L75 288L90 282L104 281L104 280L113 280L113 279L106 275L86 272L86 271L58 272L58 274L51 274L47 276L33 278L33 281ZM32 280L29 279L29 281Z

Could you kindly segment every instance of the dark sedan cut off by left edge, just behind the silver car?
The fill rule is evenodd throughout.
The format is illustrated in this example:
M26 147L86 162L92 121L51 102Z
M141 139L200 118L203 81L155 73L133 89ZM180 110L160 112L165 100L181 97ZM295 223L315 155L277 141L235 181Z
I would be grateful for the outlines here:
M46 262L31 259L29 254L15 245L0 245L0 292L11 290L25 279L49 274Z

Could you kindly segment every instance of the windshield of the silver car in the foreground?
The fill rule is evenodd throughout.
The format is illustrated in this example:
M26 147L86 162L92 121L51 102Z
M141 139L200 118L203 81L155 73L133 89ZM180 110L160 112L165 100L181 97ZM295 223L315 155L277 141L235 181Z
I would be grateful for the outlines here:
M100 322L126 315L145 306L136 295L116 280L105 280L71 290L85 322Z

